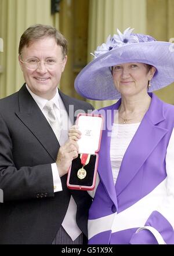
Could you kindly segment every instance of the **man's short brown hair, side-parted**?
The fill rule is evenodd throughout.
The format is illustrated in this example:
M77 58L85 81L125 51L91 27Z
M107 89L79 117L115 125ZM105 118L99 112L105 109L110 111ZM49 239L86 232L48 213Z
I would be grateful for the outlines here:
M58 30L56 30L55 27L42 24L35 24L28 27L27 30L21 35L19 43L19 55L21 55L24 46L28 47L30 44L32 44L32 42L46 37L55 38L57 45L61 46L63 57L67 55L68 47L66 38L64 38L64 36Z

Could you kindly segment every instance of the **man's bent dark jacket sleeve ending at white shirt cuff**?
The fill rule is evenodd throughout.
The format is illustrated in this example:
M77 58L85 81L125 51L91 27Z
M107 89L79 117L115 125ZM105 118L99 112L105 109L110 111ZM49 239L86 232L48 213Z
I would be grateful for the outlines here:
M20 139L20 138L19 138ZM0 116L0 189L3 202L54 196L51 164L17 169L13 162L13 141Z

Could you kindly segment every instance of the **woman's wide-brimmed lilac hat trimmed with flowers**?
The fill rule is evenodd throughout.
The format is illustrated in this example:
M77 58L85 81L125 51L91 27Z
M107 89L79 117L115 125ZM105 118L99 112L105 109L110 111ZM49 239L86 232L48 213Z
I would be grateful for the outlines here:
M133 34L127 28L122 34L109 36L97 47L94 59L75 79L75 90L84 98L113 100L121 97L114 85L111 67L117 64L139 62L156 68L149 92L174 82L174 46L156 41L150 35Z

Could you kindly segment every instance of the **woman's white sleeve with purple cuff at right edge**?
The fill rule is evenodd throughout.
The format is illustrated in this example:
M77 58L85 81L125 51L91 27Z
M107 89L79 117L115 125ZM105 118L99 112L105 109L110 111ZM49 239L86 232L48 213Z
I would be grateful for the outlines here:
M166 193L147 219L144 227L137 229L131 244L174 244L174 129L166 150Z

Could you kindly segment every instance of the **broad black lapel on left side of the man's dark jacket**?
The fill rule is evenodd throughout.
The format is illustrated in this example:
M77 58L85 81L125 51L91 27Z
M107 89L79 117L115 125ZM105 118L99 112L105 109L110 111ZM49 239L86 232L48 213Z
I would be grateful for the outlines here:
M16 115L55 161L60 147L59 142L25 85L19 91L19 111L16 111Z

